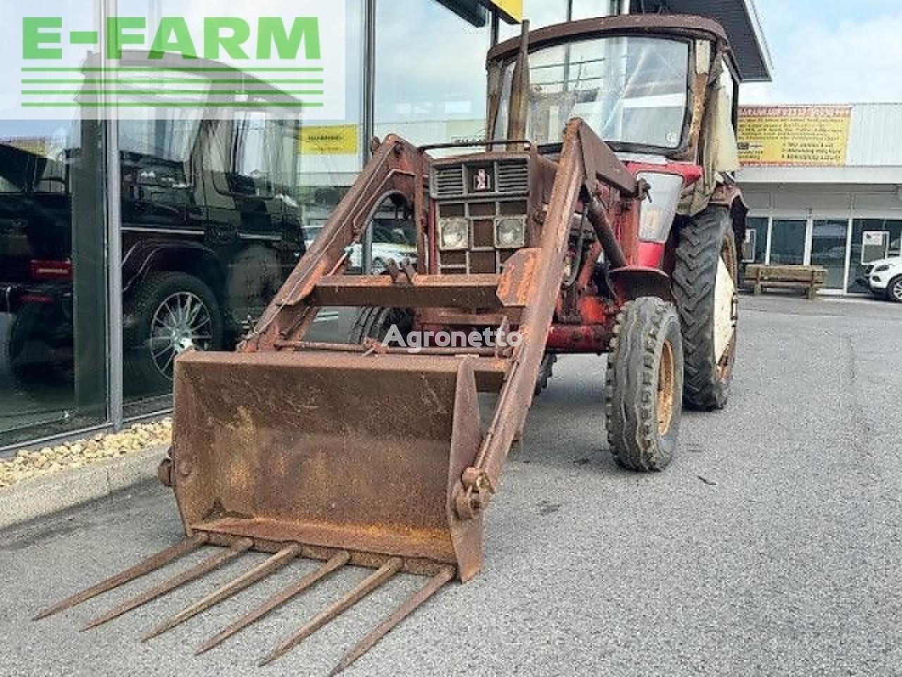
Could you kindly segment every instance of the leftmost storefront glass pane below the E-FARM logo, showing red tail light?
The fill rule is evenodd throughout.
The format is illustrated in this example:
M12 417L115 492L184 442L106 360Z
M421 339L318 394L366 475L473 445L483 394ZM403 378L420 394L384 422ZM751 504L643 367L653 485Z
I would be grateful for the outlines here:
M0 447L106 422L101 132L0 122Z

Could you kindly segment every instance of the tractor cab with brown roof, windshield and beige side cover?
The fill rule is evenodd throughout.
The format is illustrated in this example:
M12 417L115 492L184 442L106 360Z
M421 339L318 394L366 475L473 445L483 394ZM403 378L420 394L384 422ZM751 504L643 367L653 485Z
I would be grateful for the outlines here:
M649 183L652 239L666 239L677 211L692 216L711 199L739 197L729 187L739 168L740 76L720 23L662 14L562 23L497 45L487 70L488 138L522 139L554 156L567 121L582 118ZM741 200L734 207L744 210Z

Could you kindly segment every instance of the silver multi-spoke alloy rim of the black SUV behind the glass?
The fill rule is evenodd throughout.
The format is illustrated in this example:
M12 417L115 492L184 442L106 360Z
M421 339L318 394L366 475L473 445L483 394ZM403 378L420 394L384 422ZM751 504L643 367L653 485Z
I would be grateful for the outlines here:
M150 351L154 366L171 379L175 358L181 353L189 348L210 348L212 329L213 318L197 294L172 294L153 313Z

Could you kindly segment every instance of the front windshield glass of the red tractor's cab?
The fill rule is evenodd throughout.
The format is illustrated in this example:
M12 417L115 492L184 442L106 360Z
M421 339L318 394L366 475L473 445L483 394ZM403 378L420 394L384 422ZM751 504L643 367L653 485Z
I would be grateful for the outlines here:
M572 117L606 142L675 149L688 105L689 44L645 37L596 38L529 53L527 138L556 144ZM514 62L504 70L495 138L507 134Z

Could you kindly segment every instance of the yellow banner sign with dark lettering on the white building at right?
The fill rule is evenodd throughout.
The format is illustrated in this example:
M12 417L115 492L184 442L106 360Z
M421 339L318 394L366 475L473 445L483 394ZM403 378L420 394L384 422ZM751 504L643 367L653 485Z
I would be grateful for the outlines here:
M841 167L849 145L851 107L741 107L742 164Z

